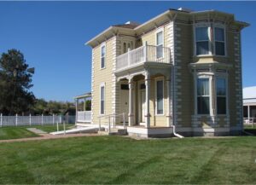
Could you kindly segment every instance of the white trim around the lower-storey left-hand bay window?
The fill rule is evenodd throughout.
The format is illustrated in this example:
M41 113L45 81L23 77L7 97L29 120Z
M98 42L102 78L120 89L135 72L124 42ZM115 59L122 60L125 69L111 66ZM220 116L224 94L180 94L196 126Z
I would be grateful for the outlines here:
M213 116L213 109L212 109L212 72L195 72L194 76L194 81L195 81L195 86L194 86L194 102L195 102L195 115L196 116ZM209 78L209 114L199 114L197 110L197 79L198 78Z

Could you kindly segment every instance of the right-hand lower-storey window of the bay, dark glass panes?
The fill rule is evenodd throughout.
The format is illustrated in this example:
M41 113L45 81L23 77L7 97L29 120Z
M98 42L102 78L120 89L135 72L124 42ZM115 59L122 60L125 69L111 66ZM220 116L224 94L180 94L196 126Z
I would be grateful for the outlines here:
M226 114L226 78L217 78L217 113Z

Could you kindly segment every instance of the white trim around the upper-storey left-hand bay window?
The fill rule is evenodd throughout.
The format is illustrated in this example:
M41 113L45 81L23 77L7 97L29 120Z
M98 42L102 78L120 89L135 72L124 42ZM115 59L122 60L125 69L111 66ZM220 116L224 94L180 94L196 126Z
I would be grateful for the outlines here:
M207 31L208 31L208 48L209 48L209 52L207 55L196 55L196 28L197 27L207 27ZM211 43L212 43L212 37L211 37L211 25L209 23L197 23L193 25L193 30L194 30L194 56L210 56L212 55L212 47L211 47Z

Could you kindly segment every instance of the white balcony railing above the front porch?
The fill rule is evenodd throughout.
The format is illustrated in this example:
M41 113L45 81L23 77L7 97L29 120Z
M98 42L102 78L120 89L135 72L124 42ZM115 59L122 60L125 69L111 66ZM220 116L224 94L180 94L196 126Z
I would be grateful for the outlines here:
M143 62L171 63L171 50L162 46L145 45L116 58L116 70L136 66Z

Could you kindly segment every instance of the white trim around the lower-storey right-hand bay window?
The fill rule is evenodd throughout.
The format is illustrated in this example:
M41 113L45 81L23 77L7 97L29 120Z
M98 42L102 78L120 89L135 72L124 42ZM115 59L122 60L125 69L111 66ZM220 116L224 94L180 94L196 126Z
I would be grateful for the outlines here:
M216 74L216 76L215 76L216 78L216 80L215 80L215 85L214 85L214 87L215 87L215 92L216 92L216 95L215 95L215 105L216 105L216 115L217 116L227 116L227 115L230 115L230 109L229 109L229 78L228 78L228 75L227 75L227 73L217 73ZM217 95L217 78L224 78L225 79L225 84L226 84L226 95L225 95L225 97L226 97L226 113L225 114L218 114L218 105L217 105L217 97L218 97L218 95Z

